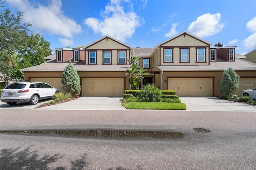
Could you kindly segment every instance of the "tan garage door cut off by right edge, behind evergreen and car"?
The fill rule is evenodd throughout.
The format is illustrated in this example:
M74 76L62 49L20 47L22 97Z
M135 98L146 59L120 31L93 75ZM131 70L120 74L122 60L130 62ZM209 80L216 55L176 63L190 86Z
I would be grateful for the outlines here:
M238 97L242 96L243 90L256 88L256 78L240 78L239 90L236 92Z

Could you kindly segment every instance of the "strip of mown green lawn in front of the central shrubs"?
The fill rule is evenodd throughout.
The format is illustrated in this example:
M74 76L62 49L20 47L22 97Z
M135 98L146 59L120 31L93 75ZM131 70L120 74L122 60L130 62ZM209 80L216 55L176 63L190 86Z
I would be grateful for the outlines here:
M129 102L122 103L126 109L186 110L185 103Z

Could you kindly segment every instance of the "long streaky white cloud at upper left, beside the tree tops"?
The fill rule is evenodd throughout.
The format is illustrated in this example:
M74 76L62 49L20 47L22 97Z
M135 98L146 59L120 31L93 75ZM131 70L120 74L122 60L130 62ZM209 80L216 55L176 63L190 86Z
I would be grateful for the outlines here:
M46 31L50 35L72 38L82 32L82 27L75 20L65 16L60 0L52 0L47 6L28 0L7 1L23 13L22 20L30 22L32 29Z

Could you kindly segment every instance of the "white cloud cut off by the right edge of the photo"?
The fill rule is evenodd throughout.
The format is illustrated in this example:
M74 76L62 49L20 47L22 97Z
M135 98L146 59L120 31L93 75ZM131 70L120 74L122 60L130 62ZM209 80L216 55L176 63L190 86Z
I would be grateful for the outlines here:
M256 48L256 17L247 22L246 29L253 34L243 41L244 47L246 49L254 49Z

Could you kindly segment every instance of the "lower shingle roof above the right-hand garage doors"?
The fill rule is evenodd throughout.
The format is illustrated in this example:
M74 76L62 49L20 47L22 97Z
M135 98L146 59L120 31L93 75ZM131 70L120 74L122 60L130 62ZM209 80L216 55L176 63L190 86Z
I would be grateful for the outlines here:
M160 65L158 68L164 71L211 71L224 70L232 67L234 70L256 70L256 63L236 58L235 61L225 61L217 58L217 61L210 62L210 65Z

